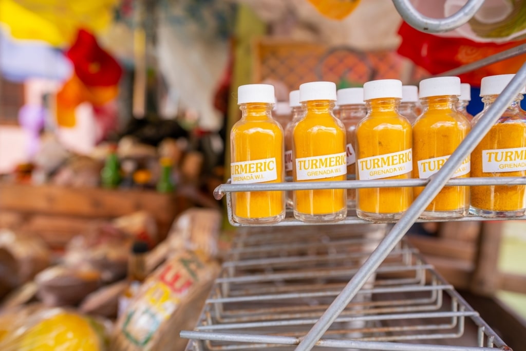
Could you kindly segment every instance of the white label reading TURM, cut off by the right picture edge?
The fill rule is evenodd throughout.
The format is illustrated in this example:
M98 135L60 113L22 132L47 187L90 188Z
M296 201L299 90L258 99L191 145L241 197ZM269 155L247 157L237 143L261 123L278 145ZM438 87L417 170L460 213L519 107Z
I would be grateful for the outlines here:
M482 150L482 172L526 171L526 147Z

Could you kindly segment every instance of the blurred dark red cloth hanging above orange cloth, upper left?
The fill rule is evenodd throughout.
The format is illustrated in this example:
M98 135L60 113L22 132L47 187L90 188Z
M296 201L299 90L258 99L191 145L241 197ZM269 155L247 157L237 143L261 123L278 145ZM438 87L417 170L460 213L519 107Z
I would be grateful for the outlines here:
M87 86L112 86L122 75L115 58L97 44L93 34L79 29L75 43L66 52L73 62L75 74Z

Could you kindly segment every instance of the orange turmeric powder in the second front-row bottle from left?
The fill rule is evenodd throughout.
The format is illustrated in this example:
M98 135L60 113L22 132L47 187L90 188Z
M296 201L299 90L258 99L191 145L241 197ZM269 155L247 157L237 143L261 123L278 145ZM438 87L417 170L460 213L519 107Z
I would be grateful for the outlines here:
M323 177L320 179L297 180L297 159L305 157L322 156L321 162L327 165L338 165L337 156L328 155L345 154L346 133L338 119L329 113L330 101L309 101L306 103L307 112L304 118L294 127L294 171L295 182L326 182L327 180L346 180L346 174ZM316 160L318 161L318 160ZM345 162L345 157L343 157ZM304 164L305 165L305 164ZM308 165L307 165L308 166ZM310 167L309 172L316 171ZM346 190L297 190L295 192L295 210L301 214L323 215L335 214L347 208Z

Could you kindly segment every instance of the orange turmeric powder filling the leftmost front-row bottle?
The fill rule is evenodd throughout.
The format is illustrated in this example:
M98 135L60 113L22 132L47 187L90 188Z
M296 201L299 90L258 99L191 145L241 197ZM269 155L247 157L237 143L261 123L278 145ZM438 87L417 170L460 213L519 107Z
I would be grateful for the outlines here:
M260 103L247 103L241 106L241 109L245 109L244 118L237 122L230 132L231 162L254 161L254 163L240 164L237 169L236 165L231 165L232 183L239 173L274 171L274 168L277 179L269 182L257 182L257 180L251 182L280 183L285 180L283 131L276 121L269 118L268 106ZM275 159L275 162L261 161L269 159ZM274 218L285 213L284 192L233 193L232 200L234 216L238 217L238 221L242 221L243 218Z

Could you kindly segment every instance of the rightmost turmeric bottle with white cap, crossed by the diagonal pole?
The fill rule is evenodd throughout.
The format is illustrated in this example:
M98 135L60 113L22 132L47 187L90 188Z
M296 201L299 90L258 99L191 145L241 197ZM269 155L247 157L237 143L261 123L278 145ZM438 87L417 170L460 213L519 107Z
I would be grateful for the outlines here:
M473 118L472 126L484 118L513 76L482 78L480 96L484 108ZM520 107L524 93L523 88L471 153L472 177L526 176L526 112ZM524 185L472 186L470 212L484 217L523 216L525 188Z

